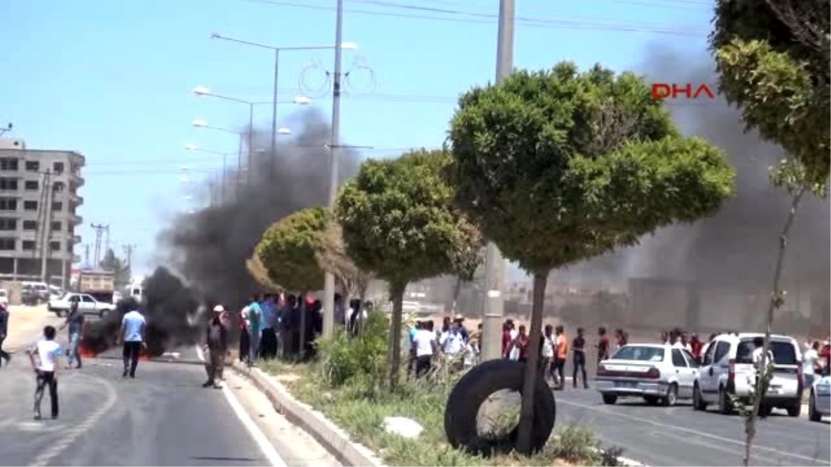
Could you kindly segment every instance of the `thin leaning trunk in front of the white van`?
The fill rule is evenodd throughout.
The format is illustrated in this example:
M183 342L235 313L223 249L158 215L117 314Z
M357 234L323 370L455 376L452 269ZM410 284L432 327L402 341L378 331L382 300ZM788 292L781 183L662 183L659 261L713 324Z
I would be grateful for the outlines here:
M756 378L756 385L753 392L753 408L750 410L750 414L747 415L747 419L745 420L745 457L742 463L744 467L750 466L750 451L753 446L753 440L756 436L756 418L759 414L759 406L761 405L762 397L764 396L761 394L761 386L763 380L765 380L765 373L768 368L767 360L768 351L770 351L770 334L774 322L774 312L782 306L783 302L782 291L779 290L779 280L782 277L782 269L784 268L784 253L788 248L788 234L790 233L790 228L794 225L796 209L799 208L799 202L802 201L802 197L804 196L807 188L807 186L803 185L797 189L796 193L794 193L794 196L790 202L788 217L785 219L782 233L779 234L779 254L776 256L776 266L774 268L773 291L770 293L770 305L768 306L767 316L765 317L765 345L762 347L762 361L760 362L760 368L763 369L763 372L762 375Z

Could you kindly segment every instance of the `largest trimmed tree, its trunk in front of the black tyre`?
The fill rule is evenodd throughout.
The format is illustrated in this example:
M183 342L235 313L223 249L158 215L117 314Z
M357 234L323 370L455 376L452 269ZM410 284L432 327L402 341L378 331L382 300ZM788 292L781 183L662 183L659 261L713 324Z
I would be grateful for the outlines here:
M517 443L529 454L549 271L715 213L735 174L720 150L681 137L632 73L563 62L475 88L459 105L450 129L458 204L534 276Z

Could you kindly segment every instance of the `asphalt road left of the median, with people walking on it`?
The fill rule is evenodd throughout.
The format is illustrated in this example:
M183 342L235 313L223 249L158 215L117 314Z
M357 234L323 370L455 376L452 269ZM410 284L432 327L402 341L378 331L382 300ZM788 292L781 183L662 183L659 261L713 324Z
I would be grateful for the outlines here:
M339 465L265 396L226 372L204 389L203 366L140 362L135 380L106 358L59 373L61 415L32 419L32 371L18 354L0 369L0 459L19 467ZM43 414L48 415L48 396Z

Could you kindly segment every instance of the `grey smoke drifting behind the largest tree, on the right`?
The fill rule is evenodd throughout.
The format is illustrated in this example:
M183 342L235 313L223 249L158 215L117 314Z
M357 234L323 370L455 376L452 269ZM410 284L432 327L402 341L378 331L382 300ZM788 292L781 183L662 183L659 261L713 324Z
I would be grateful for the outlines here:
M706 83L716 89L715 66L703 52L691 62L689 54L653 48L637 70L652 81ZM789 209L789 196L771 187L768 178L769 167L784 159L783 151L753 132L745 133L740 115L724 101L678 101L671 111L687 135L701 136L725 150L737 170L735 197L710 219L662 229L636 248L578 264L555 280L617 282L618 287L625 287L621 281L632 277L693 280L711 295L712 307L719 307L721 294L729 288L766 298ZM819 248L831 232L829 214L831 203L804 201L791 231L786 289L807 292L829 277L831 252ZM739 312L723 308L725 313Z

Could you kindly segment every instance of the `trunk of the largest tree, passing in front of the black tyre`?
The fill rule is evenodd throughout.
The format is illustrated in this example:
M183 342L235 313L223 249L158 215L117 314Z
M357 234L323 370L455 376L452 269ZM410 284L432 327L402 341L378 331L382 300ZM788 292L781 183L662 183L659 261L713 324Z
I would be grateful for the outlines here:
M529 325L528 361L525 363L525 377L522 391L522 409L519 412L519 432L517 433L517 452L531 454L531 430L534 424L534 388L537 387L539 374L539 342L543 335L543 302L548 273L534 274L534 302L531 305L531 324Z

